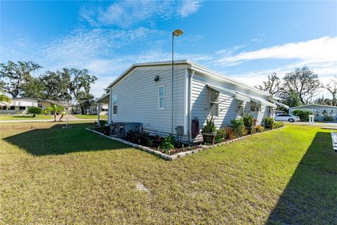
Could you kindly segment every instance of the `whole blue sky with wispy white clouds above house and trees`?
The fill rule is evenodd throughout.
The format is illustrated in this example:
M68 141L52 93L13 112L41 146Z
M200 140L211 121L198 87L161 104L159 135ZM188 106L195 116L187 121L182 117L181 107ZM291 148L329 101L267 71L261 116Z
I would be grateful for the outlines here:
M337 75L337 1L1 1L0 23L1 63L87 68L95 96L133 63L170 60L177 28L176 59L247 84L303 65Z

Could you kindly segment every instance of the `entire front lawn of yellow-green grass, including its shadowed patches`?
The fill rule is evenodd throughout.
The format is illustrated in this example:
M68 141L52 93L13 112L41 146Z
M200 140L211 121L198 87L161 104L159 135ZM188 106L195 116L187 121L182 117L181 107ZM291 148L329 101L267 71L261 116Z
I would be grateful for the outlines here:
M329 130L289 124L165 161L72 125L0 124L1 223L337 224Z

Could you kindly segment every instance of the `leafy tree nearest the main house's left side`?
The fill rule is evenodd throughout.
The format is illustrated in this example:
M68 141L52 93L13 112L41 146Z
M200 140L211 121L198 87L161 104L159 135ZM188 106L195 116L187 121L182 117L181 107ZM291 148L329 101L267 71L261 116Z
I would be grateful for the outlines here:
M72 68L67 70L70 76L73 77L70 83L70 91L74 98L81 106L81 113L86 114L86 108L90 101L93 101L94 96L90 94L91 84L95 84L97 77L89 75L88 70L79 70Z

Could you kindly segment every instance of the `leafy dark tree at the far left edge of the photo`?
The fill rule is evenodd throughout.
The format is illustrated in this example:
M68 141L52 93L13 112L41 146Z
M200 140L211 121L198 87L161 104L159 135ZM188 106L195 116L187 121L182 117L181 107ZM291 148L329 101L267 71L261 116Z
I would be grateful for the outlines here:
M39 64L32 61L19 61L18 63L8 61L8 63L0 63L0 67L1 86L13 98L20 95L22 85L32 77L30 73L41 68Z

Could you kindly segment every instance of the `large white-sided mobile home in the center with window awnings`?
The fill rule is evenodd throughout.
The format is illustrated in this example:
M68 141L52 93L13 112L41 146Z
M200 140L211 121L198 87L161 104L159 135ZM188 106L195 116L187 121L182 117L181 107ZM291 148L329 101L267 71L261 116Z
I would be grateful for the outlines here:
M171 61L134 64L117 77L108 86L108 122L139 122L145 131L160 135L175 135L178 127L180 140L198 142L211 115L217 129L245 113L260 124L263 117L275 115L276 103L283 105L271 94L189 60L174 63L172 95L171 67ZM198 135L192 135L192 127Z

